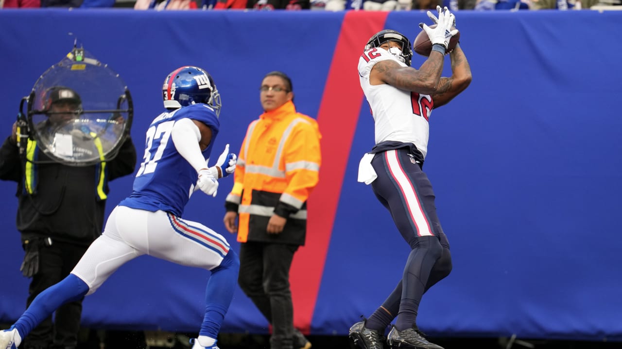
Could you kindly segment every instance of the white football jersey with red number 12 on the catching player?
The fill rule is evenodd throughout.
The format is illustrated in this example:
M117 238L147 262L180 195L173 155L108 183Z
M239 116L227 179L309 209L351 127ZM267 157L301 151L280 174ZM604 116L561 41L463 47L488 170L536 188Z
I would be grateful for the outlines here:
M369 84L369 72L384 60L399 61L384 48L374 47L363 52L358 60L361 88L374 117L376 144L386 141L414 143L425 158L429 137L428 119L432 112L432 97L389 84Z

